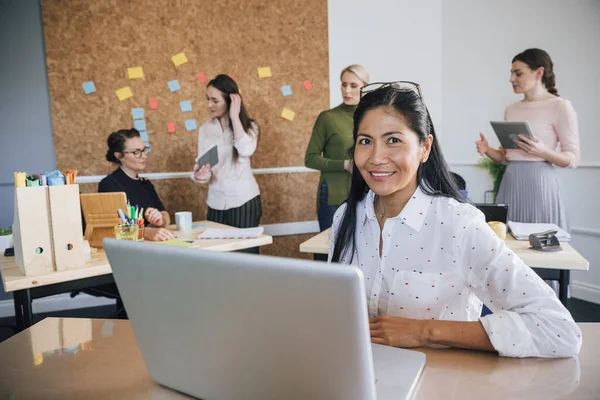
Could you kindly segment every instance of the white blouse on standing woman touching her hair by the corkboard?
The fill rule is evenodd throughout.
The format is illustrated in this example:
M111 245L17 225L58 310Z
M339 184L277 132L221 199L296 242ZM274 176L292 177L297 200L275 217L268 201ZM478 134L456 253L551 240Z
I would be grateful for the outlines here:
M250 156L256 150L258 126L252 126L240 140L235 140L230 126L225 129L217 118L206 121L198 130L198 157L217 145L219 162L212 168L208 185L208 206L214 210L237 208L260 194L252 174ZM238 151L237 162L233 162L233 148ZM192 180L198 183L192 172Z

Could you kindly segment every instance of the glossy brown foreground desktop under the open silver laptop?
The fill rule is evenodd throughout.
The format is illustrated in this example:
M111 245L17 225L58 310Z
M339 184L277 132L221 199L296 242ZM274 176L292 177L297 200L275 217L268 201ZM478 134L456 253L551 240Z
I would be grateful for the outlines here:
M420 348L427 363L415 397L597 399L600 323L580 326L583 347L575 358ZM46 318L1 343L0 360L0 398L187 398L150 379L126 320Z

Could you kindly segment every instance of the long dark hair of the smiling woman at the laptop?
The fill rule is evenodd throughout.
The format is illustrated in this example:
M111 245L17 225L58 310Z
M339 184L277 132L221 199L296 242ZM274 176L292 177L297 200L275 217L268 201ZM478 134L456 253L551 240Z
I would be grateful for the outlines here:
M350 149L350 156L352 158L354 156L358 127L365 114L379 107L391 109L402 115L406 125L417 134L419 143L424 144L429 135L433 136L429 158L417 170L417 183L423 192L432 196L451 197L464 202L444 160L429 111L415 91L404 92L392 87L384 87L364 95L354 112L354 145ZM352 261L356 251L356 208L368 192L367 183L354 165L350 194L346 199L346 209L335 237L333 262L340 262L342 256L347 254L350 254L350 262Z

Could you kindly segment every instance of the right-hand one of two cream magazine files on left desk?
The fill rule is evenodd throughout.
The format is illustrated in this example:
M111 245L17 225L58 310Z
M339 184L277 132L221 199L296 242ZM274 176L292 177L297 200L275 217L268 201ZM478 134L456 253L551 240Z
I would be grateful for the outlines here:
M57 271L85 265L79 185L48 186L54 265Z

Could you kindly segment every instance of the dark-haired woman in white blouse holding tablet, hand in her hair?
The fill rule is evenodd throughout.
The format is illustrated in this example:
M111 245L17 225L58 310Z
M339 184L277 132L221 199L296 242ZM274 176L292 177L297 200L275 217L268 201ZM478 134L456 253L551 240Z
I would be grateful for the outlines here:
M192 180L208 185L209 221L236 228L258 226L260 190L250 165L258 141L258 125L248 116L233 79L217 75L208 82L210 119L198 131L198 158L217 146L218 163L194 166Z

